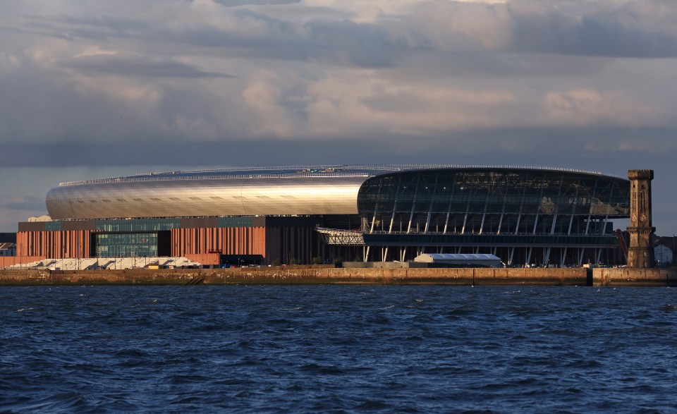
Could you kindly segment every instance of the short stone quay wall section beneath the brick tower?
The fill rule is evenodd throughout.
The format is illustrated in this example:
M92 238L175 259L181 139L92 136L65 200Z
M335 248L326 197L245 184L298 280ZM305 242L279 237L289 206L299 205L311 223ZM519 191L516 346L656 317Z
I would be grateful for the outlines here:
M677 269L593 269L592 286L677 286Z

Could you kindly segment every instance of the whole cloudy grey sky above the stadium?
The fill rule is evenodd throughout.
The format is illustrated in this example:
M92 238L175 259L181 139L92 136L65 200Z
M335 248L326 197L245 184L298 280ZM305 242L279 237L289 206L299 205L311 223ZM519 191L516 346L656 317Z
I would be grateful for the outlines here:
M2 1L0 231L60 181L407 162L654 169L671 235L675 21L672 0Z

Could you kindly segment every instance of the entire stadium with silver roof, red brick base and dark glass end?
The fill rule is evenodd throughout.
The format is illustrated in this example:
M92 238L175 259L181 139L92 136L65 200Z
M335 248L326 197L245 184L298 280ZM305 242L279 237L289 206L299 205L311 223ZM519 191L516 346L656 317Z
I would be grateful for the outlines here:
M331 165L170 171L60 183L18 255L201 258L211 264L618 261L630 181L521 166ZM207 257L211 257L207 259Z

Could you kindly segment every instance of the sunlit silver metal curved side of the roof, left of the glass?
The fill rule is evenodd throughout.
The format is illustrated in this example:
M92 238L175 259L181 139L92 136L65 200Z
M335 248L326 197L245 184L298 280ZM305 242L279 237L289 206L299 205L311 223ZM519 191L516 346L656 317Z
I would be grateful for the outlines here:
M49 190L52 219L357 214L368 176L121 181Z

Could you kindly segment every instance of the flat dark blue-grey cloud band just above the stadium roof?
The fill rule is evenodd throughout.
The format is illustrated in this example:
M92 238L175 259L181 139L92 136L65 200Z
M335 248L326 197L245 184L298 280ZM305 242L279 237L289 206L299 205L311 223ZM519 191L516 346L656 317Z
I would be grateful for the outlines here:
M441 164L521 164L569 166L606 173L673 163L674 151L661 145L674 128L513 128L465 130L439 135L370 133L325 140L245 140L190 142L147 136L111 142L8 142L0 164L20 166L285 165L434 162ZM596 147L589 148L590 142ZM620 150L618 142L645 142ZM384 147L385 145L385 147ZM387 150L384 150L387 148ZM676 171L677 173L677 171Z

